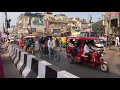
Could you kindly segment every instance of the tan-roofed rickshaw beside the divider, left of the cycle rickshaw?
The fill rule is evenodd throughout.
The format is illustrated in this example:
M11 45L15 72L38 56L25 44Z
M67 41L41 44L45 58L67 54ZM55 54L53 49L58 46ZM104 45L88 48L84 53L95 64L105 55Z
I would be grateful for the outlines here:
M24 37L24 50L26 50L26 47L27 47L27 40L29 40L29 39L34 39L34 38L36 38L36 36L26 36L26 37ZM35 50L35 47L34 46L31 46L31 47L29 47L26 51L27 52L31 52L32 54L34 53L34 50Z

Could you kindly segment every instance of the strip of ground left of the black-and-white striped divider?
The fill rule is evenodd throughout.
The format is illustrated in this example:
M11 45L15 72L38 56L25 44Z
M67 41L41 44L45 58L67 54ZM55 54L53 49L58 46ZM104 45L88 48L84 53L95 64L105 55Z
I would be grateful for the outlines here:
M3 62L4 78L22 78L22 75L13 64L13 61L10 60L6 51L2 50L1 58Z

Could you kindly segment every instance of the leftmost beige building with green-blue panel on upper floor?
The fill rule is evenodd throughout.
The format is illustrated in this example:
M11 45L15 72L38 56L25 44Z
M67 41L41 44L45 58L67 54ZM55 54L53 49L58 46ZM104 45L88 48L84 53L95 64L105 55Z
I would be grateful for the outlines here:
M41 13L24 13L18 17L17 30L18 34L27 35L33 32L44 32L44 17Z

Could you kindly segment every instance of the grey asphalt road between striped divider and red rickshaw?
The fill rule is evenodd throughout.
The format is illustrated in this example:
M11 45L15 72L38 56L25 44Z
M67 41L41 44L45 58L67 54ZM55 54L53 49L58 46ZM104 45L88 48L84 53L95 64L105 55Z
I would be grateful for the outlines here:
M60 52L61 60L59 62L55 62L55 61L50 60L50 59L48 60L48 56L44 56L43 59L52 63L53 65L58 66L59 68L61 68L63 70L66 70L74 75L77 75L81 78L120 78L120 73L119 74L115 73L114 65L111 65L110 63L112 63L112 62L110 62L110 61L108 62L108 64L111 65L111 66L109 65L110 72L104 73L99 68L95 69L95 68L92 68L86 64L80 64L78 62L75 62L74 64L69 64L66 57L65 57L66 56L65 54L66 53L64 52L64 50ZM35 53L35 56L37 56L37 53ZM106 61L108 61L108 60L106 60Z

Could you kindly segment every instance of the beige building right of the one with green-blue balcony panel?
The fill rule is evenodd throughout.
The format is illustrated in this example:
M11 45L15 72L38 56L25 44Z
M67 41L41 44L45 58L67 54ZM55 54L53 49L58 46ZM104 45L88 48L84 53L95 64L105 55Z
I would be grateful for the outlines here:
M53 36L61 36L64 34L70 34L69 26L68 26L68 17L64 14L48 14L44 17L44 20L48 22L48 30L50 35ZM46 30L46 29L45 29Z

